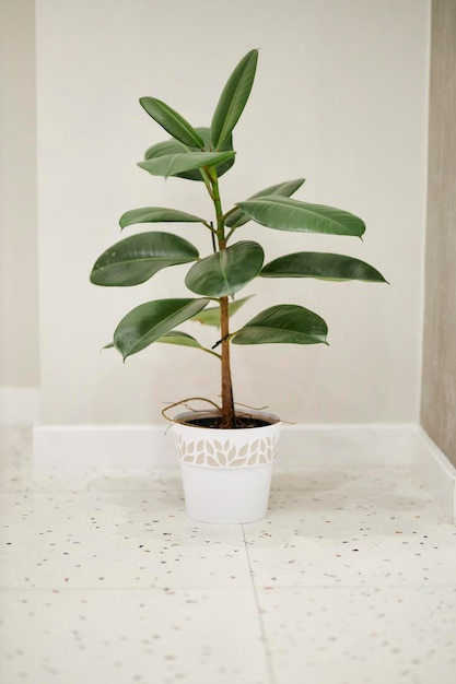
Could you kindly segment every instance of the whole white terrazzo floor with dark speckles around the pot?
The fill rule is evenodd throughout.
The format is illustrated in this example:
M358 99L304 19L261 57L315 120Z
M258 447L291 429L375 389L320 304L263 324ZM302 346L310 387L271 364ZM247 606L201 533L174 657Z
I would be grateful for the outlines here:
M404 468L277 469L268 517L178 471L39 471L0 428L1 684L455 684L456 528Z

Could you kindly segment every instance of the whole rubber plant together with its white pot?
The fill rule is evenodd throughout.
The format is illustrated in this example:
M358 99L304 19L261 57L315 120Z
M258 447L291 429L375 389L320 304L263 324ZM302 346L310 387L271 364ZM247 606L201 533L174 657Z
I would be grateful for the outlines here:
M201 186L209 193L213 215L202 217L177 209L147 207L122 214L120 227L144 223L199 224L208 235L208 253L200 256L191 241L171 232L152 231L131 235L109 247L91 273L96 285L124 287L144 283L161 269L191 264L185 273L191 297L140 304L120 320L107 346L114 346L124 359L153 342L194 347L217 358L217 373L221 373L220 405L204 400L204 411L186 411L174 417L187 512L208 522L247 522L264 517L277 456L280 420L258 415L234 402L231 345L325 344L327 338L323 318L296 304L261 308L252 320L235 328L232 317L245 300L235 295L257 278L385 282L367 263L337 253L300 251L265 263L261 245L245 239L241 228L248 221L268 229L294 233L359 237L364 233L363 221L349 212L292 199L304 182L302 178L279 182L230 207L222 203L219 180L234 164L232 133L247 103L257 59L258 50L254 49L238 62L209 128L194 128L160 99L140 99L143 109L171 139L149 148L139 166L154 176L184 178ZM178 329L190 320L219 329L211 349ZM187 405L189 401L173 406Z

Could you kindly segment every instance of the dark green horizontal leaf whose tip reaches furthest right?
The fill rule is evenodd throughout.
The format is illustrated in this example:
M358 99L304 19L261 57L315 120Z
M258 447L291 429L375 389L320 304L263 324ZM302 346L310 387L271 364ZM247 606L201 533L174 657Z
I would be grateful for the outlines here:
M382 273L360 259L317 251L299 251L279 257L262 268L260 276L386 282Z

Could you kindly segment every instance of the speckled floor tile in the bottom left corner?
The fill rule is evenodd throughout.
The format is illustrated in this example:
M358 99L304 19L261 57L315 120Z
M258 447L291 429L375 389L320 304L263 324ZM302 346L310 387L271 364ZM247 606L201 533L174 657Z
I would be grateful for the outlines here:
M0 592L3 684L265 684L244 589Z

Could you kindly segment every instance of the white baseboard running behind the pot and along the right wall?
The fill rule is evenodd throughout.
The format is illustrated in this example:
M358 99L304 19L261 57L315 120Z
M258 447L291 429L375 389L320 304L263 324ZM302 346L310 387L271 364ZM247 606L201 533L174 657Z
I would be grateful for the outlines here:
M167 425L35 425L36 468L173 468ZM416 424L284 425L284 468L411 467L456 522L456 469Z

